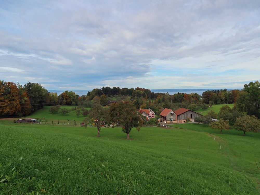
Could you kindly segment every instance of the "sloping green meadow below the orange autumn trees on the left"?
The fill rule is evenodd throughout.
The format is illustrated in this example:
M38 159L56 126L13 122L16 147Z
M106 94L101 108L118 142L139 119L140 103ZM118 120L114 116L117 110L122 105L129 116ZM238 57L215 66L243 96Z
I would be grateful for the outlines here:
M61 106L61 108L66 108L68 110L74 108L75 106ZM85 117L83 115L79 115L79 117L77 117L76 115L76 112L75 110L71 111L70 113L68 114L61 114L59 112L56 112L56 113L51 113L49 111L49 109L51 108L51 106L44 106L44 108L42 109L39 109L37 110L36 112L34 112L33 114L27 116L27 117L30 117L30 118L39 118L39 119L45 119L45 120L49 120L49 121L56 121L56 120L69 120L69 121L72 121L72 120L76 120L76 121L83 121L85 119ZM90 108L87 108L88 110Z

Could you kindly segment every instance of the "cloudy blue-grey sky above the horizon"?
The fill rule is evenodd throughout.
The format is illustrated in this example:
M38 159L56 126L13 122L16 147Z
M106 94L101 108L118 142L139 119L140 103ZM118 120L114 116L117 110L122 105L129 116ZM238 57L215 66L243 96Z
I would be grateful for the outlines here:
M243 88L259 75L259 0L0 1L0 80Z

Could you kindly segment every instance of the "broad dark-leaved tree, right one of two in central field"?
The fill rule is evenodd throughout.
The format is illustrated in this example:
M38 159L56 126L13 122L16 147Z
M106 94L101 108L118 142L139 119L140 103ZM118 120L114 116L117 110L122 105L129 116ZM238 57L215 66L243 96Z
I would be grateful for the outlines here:
M142 121L135 111L135 106L132 102L113 103L109 109L110 116L114 122L119 121L123 126L122 132L126 133L127 139L130 139L129 133L135 127L140 131Z

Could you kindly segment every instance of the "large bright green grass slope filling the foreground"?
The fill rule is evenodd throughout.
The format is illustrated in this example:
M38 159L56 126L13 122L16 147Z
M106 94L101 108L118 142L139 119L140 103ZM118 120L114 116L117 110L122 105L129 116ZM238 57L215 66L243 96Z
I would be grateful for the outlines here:
M0 125L0 194L260 193L259 134L174 127Z

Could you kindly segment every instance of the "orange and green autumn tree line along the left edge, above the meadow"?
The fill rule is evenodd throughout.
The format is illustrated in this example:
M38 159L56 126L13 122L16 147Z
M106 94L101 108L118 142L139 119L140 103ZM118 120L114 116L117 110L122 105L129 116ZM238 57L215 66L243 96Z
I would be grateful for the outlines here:
M0 116L27 116L44 106L76 105L79 95L72 91L62 94L48 92L41 84L0 80Z

